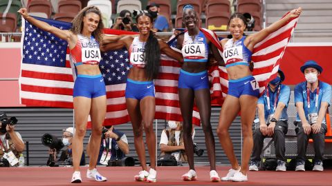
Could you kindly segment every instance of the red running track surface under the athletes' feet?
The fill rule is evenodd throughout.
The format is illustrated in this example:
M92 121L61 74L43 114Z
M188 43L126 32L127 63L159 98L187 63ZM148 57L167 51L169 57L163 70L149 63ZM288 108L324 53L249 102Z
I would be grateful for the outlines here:
M133 176L140 167L98 167L107 182L86 179L87 167L81 167L82 183L71 184L72 167L10 167L0 168L0 185L332 185L332 170L324 172L249 172L246 183L211 183L209 167L196 167L198 180L184 182L181 175L188 167L158 167L157 182L135 182ZM219 176L225 176L229 167L217 167Z

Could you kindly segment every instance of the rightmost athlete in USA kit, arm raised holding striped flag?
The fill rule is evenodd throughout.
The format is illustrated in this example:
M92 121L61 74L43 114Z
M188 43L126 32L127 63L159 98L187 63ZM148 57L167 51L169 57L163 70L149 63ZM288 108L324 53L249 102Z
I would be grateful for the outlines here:
M243 14L235 13L230 17L228 29L232 39L220 41L223 46L223 59L228 73L228 95L221 107L219 125L216 130L221 147L230 160L232 168L228 174L221 178L223 181L247 181L248 163L252 151L252 122L255 118L259 85L250 72L254 46L268 37L269 34L282 28L288 21L298 17L302 8L289 12L285 17L269 25L267 28L249 36L244 36L246 18ZM232 121L241 112L241 130L243 135L241 167L235 157L232 140L228 129Z

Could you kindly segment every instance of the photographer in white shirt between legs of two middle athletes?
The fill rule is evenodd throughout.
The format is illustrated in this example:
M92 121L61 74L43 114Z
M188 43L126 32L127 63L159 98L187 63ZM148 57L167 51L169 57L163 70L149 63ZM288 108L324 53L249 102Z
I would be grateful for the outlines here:
M160 136L160 151L161 154L172 154L176 161L187 161L185 154L185 145L183 143L183 129L182 123L179 121L168 121L169 129L163 130ZM194 139L195 130L192 127L192 138Z

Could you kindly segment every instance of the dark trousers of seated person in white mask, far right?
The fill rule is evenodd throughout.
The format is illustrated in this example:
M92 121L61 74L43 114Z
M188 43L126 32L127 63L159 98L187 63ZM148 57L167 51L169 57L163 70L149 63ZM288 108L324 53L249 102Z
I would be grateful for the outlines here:
M325 147L325 133L327 127L325 124L322 124L320 132L317 134L305 134L302 122L295 121L294 125L296 126L295 132L297 134L297 161L306 161L306 147L308 147L309 138L313 138L313 148L315 149L315 161L323 161L324 147Z

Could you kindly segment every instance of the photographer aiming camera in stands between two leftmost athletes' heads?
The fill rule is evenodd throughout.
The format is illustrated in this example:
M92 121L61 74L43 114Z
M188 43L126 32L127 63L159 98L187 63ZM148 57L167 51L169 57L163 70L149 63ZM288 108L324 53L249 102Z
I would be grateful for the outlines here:
M116 18L116 21L114 21L114 24L111 26L111 28L116 30L138 32L138 28L136 24L133 23L131 12L129 12L129 10L122 10L119 14L119 17Z

